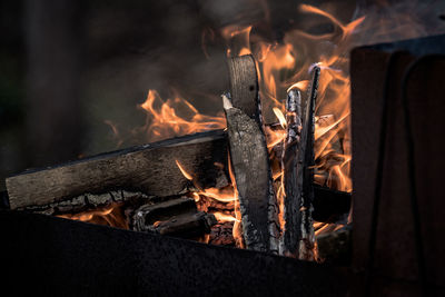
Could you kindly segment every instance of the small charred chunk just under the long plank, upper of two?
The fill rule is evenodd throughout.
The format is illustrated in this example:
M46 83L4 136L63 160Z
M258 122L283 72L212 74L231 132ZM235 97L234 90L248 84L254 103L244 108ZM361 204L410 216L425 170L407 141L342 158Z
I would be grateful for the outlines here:
M132 217L134 229L137 231L152 230L152 225L157 221L168 220L169 218L182 214L196 214L198 209L195 200L189 197L180 197L155 205L144 205L135 210Z

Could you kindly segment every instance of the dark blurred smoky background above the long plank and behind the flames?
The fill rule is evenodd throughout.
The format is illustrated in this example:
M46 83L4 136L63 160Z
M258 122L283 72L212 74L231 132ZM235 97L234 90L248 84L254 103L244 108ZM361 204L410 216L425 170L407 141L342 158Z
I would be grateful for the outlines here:
M26 168L116 149L105 121L121 132L144 126L136 106L149 89L216 115L228 88L220 28L251 23L278 42L293 28L329 30L312 28L301 2L348 22L388 1L0 0L0 190Z

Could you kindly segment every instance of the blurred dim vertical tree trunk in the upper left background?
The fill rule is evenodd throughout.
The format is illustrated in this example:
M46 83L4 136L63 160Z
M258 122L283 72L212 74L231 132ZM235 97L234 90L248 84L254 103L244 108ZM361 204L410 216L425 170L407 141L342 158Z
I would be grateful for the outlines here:
M83 136L83 1L26 2L28 166L75 159Z

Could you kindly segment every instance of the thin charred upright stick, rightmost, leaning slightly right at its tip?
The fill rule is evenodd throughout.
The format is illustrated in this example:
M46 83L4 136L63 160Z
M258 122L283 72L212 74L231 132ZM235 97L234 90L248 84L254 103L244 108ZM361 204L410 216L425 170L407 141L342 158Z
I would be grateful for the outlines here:
M312 212L314 200L314 129L315 129L315 101L317 98L318 79L320 69L315 67L313 70L312 85L306 100L304 112L300 147L297 161L297 195L299 195L299 206L297 214L297 226L299 238L298 258L313 260L314 255L314 226Z

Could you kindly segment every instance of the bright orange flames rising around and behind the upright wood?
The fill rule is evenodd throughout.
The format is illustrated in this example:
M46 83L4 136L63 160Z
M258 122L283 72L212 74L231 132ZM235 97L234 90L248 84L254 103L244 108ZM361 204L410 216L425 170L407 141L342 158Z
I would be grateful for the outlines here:
M382 6L382 4L379 4ZM297 88L301 92L309 86L309 72L314 65L322 69L316 105L315 127L315 181L330 188L348 191L353 190L350 180L350 81L348 52L357 44L365 42L383 42L396 38L412 38L425 34L422 26L416 26L413 19L416 13L407 13L400 7L394 8L388 18L382 9L387 7L376 6L367 17L356 18L349 23L344 23L333 14L308 4L298 7L301 13L314 16L314 20L332 24L330 32L313 34L299 29L285 32L280 42L271 42L260 36L254 26L230 24L221 29L220 36L227 47L227 56L241 56L253 53L257 61L259 78L259 93L261 98L265 122L267 148L270 152L273 179L276 184L277 200L283 214L285 189L281 182L283 170L277 161L275 149L286 138L285 107L283 100L286 92ZM408 7L409 9L409 7ZM389 11L389 10L388 10ZM266 13L268 14L268 12ZM358 13L357 13L358 16ZM383 16L383 17L382 17ZM416 14L417 16L417 14ZM206 36L215 40L217 34L206 30ZM202 42L204 43L204 42ZM205 44L204 49L205 49ZM205 51L205 50L204 50ZM208 53L205 51L207 58ZM194 133L226 127L222 112L217 116L206 116L182 97L176 95L172 99L164 101L156 90L149 90L147 99L139 106L146 112L146 125L131 131L129 135L145 135L146 140L156 141L180 135ZM278 125L270 125L271 122ZM121 138L117 126L107 122L117 138ZM122 141L120 140L120 143ZM233 234L238 246L243 247L240 229L240 211L236 182L229 165L231 186L225 189L200 189L195 185L192 174L188 172L177 160L177 166L182 175L190 180L195 188L190 194L197 205L207 208L211 202L230 205L234 216L215 212L219 221L234 221ZM284 226L283 217L280 219ZM317 234L330 230L330 225L317 224Z

